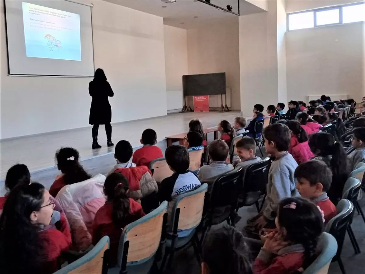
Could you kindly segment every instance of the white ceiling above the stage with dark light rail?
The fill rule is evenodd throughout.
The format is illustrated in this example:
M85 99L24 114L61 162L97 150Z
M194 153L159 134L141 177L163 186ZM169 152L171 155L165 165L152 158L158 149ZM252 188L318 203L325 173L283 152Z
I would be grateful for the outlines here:
M229 12L223 12L222 10L218 10L210 5L194 0L177 0L176 3L164 3L161 0L104 1L161 16L164 18L164 24L184 29L199 28L205 24L219 23L227 19L238 18L237 15ZM233 11L238 13L238 0L211 0L211 3L223 8L226 8L227 5L231 5L233 7ZM239 5L241 15L264 11L263 9L244 0L240 0ZM162 8L163 6L166 8ZM194 18L194 16L198 17Z

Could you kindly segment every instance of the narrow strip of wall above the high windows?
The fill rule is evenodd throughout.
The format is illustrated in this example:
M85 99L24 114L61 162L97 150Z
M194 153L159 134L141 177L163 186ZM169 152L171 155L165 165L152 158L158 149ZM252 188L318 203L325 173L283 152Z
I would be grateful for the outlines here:
M364 0L286 0L287 13L305 11L307 9L330 7L335 5L351 4Z

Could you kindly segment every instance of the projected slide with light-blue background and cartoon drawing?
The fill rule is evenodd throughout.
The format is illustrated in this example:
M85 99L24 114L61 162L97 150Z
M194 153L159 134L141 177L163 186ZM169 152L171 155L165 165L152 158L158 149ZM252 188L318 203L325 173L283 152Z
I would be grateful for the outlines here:
M22 6L27 57L81 61L80 15L26 2Z

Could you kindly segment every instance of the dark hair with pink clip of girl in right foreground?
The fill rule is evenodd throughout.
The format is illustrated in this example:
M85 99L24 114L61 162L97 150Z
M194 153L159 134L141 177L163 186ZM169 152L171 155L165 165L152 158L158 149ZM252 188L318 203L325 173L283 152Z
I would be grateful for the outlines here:
M277 210L278 224L285 228L285 241L304 247L304 269L313 261L320 235L323 217L318 207L303 198L285 198Z

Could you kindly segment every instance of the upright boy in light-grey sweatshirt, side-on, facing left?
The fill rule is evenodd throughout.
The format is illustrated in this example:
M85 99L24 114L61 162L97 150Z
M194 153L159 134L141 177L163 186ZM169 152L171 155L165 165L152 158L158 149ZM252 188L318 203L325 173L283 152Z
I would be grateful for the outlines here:
M288 153L291 134L282 123L268 125L264 129L266 153L275 160L269 170L266 186L266 201L261 212L247 221L247 232L258 233L262 228L273 228L278 203L287 197L298 195L295 188L294 171L298 166L293 156Z

